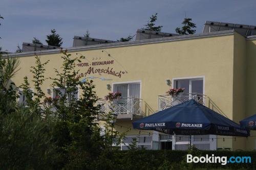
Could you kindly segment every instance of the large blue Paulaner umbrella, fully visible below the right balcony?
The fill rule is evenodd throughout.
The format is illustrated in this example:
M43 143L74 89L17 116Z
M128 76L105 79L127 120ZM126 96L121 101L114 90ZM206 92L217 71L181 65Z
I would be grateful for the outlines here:
M173 135L249 136L249 130L223 115L189 100L133 122L134 129Z

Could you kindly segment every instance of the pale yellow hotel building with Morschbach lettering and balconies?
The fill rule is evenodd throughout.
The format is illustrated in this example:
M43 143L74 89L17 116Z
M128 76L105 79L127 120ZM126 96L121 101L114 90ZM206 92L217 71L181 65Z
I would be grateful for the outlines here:
M234 30L206 32L195 35L170 36L129 42L103 43L68 48L73 57L84 56L77 63L80 79L92 79L99 98L119 91L122 99L99 101L102 110L114 107L118 114L116 130L127 131L135 119L154 114L181 101L196 99L205 106L239 123L256 111L256 36L244 36ZM23 78L32 79L29 68L35 64L35 54L46 65L46 76L54 77L54 68L60 68L59 49L9 54L18 57L20 70L13 78L16 85ZM51 80L42 89L49 96ZM170 88L184 87L180 101L165 95ZM22 89L21 89L22 90ZM79 92L78 92L79 93ZM22 98L20 101L22 102ZM256 133L251 131L251 135ZM187 148L185 136L169 136L156 131L131 130L127 132L121 149L127 149L132 138L146 149ZM254 150L253 137L230 138L204 135L193 138L199 149Z

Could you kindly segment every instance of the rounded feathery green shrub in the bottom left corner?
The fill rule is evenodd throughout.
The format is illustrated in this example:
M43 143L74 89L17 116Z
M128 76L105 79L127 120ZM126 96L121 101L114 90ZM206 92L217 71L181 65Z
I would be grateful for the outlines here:
M55 121L44 120L22 106L5 115L1 126L1 169L52 169L57 153L53 142Z

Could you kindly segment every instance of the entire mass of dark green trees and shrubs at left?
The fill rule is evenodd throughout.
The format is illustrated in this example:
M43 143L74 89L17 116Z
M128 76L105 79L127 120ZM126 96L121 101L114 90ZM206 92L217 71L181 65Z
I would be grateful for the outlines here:
M18 60L0 60L0 168L1 169L111 169L114 167L112 142L122 134L114 129L111 113L104 115L105 129L95 121L102 114L92 81L81 82L75 69L78 58L63 52L61 70L50 78L56 99L48 100L41 90L45 65L36 56L31 67L33 93L27 77L21 86L28 106L17 105L17 87L11 78ZM80 57L81 59L84 57ZM79 88L80 98L75 98ZM32 100L32 95L33 100ZM40 109L39 109L40 108ZM38 114L39 113L39 114ZM104 162L102 164L102 162ZM108 165L106 165L108 164Z

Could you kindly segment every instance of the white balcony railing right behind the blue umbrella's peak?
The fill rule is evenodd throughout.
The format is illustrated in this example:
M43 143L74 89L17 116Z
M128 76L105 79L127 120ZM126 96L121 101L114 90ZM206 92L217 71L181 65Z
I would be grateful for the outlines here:
M183 93L177 96L159 95L158 96L158 111L173 107L175 105L194 99L202 105L206 104L206 95L200 93Z

